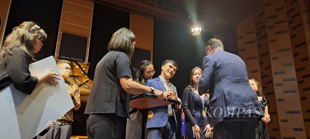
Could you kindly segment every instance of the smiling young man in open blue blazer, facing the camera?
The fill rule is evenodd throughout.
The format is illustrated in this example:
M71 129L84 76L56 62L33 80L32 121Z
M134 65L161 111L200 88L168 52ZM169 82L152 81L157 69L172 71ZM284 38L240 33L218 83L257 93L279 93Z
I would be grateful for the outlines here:
M171 99L178 99L175 86L169 82L178 69L178 64L174 60L165 60L162 64L160 76L146 81L146 86L161 91L172 90L176 96L169 96ZM175 129L177 128L175 112L181 108L181 104L174 106L160 106L148 109L148 119L146 128L148 129L148 139L175 139Z

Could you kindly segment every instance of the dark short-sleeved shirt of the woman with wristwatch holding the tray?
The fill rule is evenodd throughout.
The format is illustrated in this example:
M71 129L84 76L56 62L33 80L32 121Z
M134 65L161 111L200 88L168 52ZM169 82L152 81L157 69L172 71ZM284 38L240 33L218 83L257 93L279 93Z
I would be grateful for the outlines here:
M110 51L96 66L85 114L115 113L129 118L130 94L122 89L121 77L132 78L129 57L123 52Z

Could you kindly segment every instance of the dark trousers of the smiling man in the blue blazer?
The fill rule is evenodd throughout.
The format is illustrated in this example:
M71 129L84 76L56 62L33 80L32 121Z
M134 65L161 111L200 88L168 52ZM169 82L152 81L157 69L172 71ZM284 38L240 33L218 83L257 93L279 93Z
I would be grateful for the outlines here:
M170 116L164 127L148 128L148 139L175 139L175 127L175 120Z

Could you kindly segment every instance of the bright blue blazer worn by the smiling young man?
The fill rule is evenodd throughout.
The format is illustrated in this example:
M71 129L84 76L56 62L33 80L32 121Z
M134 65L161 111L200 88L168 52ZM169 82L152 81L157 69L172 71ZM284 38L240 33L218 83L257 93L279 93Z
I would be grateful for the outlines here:
M160 91L164 91L164 86L162 85L162 82L159 77L147 80L145 85L152 86L155 89L160 90ZM172 90L176 91L175 86L173 86ZM178 96L178 93L176 93L176 95ZM175 119L175 128L177 128L174 106L171 105L171 107L172 107L172 113ZM152 118L147 119L146 128L159 128L159 127L164 127L167 124L168 106L148 108L148 112L150 111L153 111L154 115Z

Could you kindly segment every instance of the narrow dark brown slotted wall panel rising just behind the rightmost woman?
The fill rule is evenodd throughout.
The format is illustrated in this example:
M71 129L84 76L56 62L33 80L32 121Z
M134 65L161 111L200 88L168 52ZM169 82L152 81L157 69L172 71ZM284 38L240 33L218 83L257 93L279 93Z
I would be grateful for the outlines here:
M258 44L258 58L260 73L262 78L263 94L266 96L268 102L268 112L272 121L267 124L268 132L270 137L281 138L281 130L279 125L279 118L277 113L277 100L276 100L276 91L275 83L272 73L272 57L270 56L270 44L269 44L269 35L268 27L269 24L274 23L274 21L269 21L270 15L267 15L265 11L265 3L263 6L255 13L255 31L256 31L256 41ZM272 15L274 16L274 15ZM268 19L267 19L268 18ZM268 24L269 23L269 24ZM270 28L270 27L269 27ZM274 58L276 59L276 58ZM268 83L267 82L272 82Z

